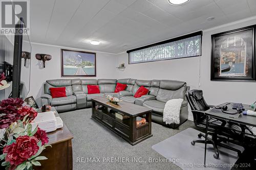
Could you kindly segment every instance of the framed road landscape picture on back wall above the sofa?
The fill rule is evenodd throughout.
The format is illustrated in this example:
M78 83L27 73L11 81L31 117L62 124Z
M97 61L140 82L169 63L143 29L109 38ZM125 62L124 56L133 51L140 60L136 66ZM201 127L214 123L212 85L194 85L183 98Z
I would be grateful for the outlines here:
M61 49L61 76L96 76L96 53Z

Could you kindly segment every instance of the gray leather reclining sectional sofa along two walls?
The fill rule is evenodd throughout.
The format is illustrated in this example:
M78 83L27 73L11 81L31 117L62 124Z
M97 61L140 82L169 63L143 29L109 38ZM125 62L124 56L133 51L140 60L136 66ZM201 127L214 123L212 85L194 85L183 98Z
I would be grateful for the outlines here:
M116 83L126 84L124 91L115 93ZM87 85L98 85L100 93L88 94ZM148 94L135 98L134 94L140 86L147 88ZM66 87L65 98L52 98L50 87ZM188 117L188 104L185 92L189 90L185 82L174 80L136 80L136 79L56 79L47 80L45 94L41 95L42 105L51 105L58 112L88 108L92 106L91 99L99 96L113 95L124 102L133 103L153 109L152 121L167 127L176 128L183 124ZM179 125L166 125L163 122L163 109L170 99L184 99L180 111Z

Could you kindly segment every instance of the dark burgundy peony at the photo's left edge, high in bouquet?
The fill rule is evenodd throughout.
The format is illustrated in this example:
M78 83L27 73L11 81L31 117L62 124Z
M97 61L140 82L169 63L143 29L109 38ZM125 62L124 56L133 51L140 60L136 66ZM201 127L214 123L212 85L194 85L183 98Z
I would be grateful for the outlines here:
M0 107L0 129L9 127L19 118L20 115L18 114L18 110L15 107L11 105Z

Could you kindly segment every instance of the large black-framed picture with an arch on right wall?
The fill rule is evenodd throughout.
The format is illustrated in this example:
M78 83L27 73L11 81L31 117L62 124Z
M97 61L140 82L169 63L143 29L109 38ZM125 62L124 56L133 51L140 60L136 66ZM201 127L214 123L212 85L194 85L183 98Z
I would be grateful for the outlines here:
M255 81L255 26L211 35L211 80Z

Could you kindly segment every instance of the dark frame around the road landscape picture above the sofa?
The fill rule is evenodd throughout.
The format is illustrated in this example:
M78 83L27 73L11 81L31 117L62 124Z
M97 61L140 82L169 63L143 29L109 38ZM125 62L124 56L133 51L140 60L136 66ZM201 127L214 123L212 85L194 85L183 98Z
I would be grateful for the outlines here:
M94 67L92 67L93 69L93 74L86 74L86 75L72 75L72 74L66 74L65 73L65 62L63 61L63 58L65 58L66 56L63 54L65 52L69 52L69 53L77 53L77 54L89 54L90 56L93 56L92 59L90 59L92 61L92 63L94 64ZM60 49L60 57L61 57L61 77L96 77L96 53L93 52L85 52L85 51L74 51L74 50L66 50L66 49ZM81 70L81 69L80 69ZM83 70L84 71L84 70ZM86 71L84 71L84 73L86 73Z

